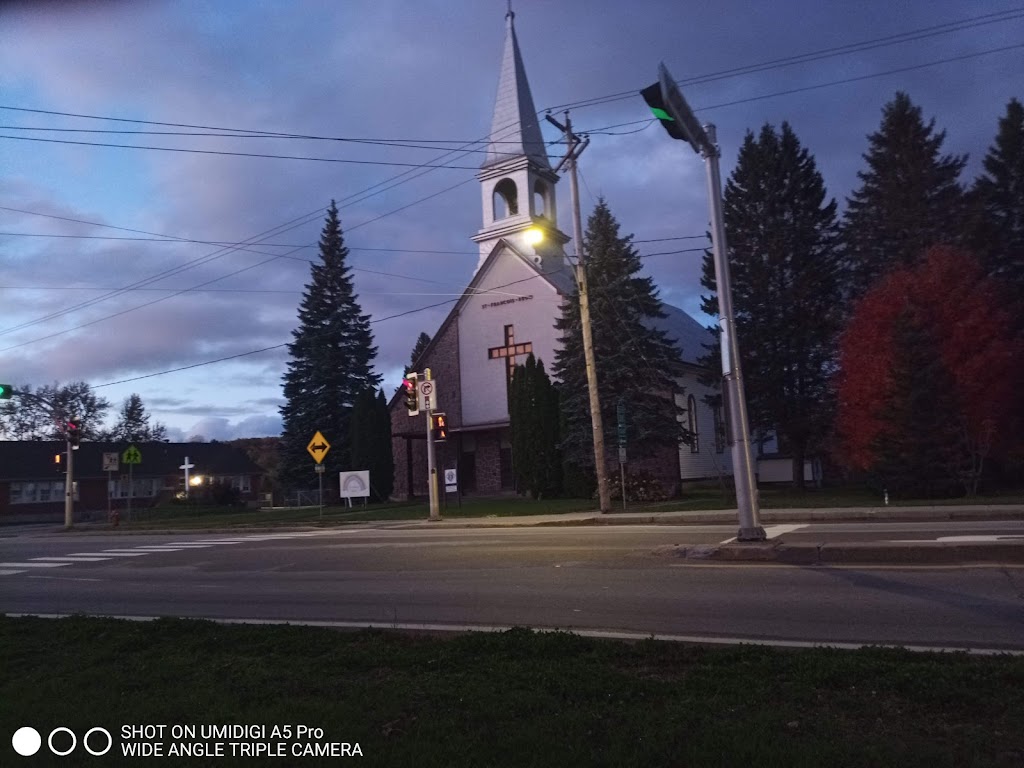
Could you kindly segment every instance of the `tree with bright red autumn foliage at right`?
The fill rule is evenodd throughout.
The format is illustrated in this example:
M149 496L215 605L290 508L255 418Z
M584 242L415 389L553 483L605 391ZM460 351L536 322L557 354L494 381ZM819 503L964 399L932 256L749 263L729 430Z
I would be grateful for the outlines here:
M1012 444L1021 415L1024 340L1013 330L1000 291L970 254L936 247L916 266L892 272L865 294L840 348L837 431L847 464L885 470L880 462L892 461L892 453L883 445L902 441L911 450L911 438L922 437L927 425L894 424L891 417L912 412L894 400L914 394L906 386L908 352L921 359L921 350L901 344L927 338L934 342L942 387L951 390L933 397L946 428L934 431L932 439L952 444L942 454L947 466L931 469L948 472L968 494L975 493L986 457ZM905 333L907 323L919 331L916 336ZM900 372L899 381L895 372ZM928 381L913 386L919 396L927 394L921 390ZM912 450L920 454L920 443ZM930 460L940 461L935 456Z

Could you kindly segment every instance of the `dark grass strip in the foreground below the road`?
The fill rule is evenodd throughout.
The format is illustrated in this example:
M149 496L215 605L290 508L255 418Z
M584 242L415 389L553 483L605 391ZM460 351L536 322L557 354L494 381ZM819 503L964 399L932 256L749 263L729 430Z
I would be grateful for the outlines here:
M125 724L229 723L323 728L374 766L1024 764L1021 657L0 617L0 658L4 764L23 725L120 752ZM85 764L51 760L25 763Z

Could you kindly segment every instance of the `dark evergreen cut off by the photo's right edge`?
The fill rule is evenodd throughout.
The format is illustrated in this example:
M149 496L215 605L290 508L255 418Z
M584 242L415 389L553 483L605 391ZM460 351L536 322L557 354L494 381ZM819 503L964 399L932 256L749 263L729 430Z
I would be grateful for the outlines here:
M1016 98L999 119L973 197L981 214L976 252L988 274L1007 283L1013 295L1024 296L1024 105Z

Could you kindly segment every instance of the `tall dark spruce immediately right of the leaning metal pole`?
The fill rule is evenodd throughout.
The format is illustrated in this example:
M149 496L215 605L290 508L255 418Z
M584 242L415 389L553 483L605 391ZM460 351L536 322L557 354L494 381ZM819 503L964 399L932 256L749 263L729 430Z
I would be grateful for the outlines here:
M829 423L841 328L836 201L787 123L778 132L766 124L757 137L748 132L723 198L751 427L778 434L803 487L804 459ZM710 253L701 285L717 290ZM717 296L702 298L701 309L717 314ZM717 345L703 360L708 371L722 370Z

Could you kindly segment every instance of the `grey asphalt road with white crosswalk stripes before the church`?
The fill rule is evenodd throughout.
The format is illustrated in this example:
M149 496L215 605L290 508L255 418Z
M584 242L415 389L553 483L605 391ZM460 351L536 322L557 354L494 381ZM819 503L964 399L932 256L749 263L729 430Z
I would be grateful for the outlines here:
M0 537L0 611L530 626L1024 649L1024 569L683 561L734 525ZM1024 523L768 526L786 542L1024 537Z

